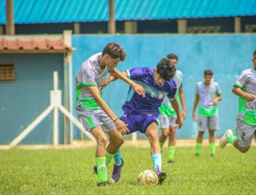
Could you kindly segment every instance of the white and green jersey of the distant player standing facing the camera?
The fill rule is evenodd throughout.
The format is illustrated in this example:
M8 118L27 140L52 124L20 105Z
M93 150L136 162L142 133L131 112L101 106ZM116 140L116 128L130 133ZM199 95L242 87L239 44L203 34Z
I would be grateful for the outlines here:
M194 94L198 95L199 98L200 116L213 117L218 113L218 105L213 105L214 98L222 94L218 82L210 82L210 86L206 86L205 82L198 82Z

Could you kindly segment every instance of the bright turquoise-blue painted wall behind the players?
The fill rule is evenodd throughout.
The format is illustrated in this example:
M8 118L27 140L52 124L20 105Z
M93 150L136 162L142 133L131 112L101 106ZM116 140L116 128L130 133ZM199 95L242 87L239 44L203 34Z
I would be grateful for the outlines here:
M218 106L221 129L216 132L216 137L221 137L226 129L235 129L238 97L231 93L231 88L241 71L253 66L251 58L256 49L256 35L74 35L72 41L77 49L73 53L73 78L82 62L101 52L108 42L118 42L126 50L126 61L118 65L121 71L138 66L155 67L166 54L177 54L178 70L184 74L187 108L186 121L182 129L177 131L178 138L197 136L196 122L191 118L194 87L202 81L204 70L213 70L214 81L219 83L222 90L222 101ZM119 117L127 90L128 86L124 82L117 81L111 83L104 92L104 99ZM78 130L74 131L74 137L79 137L79 134Z

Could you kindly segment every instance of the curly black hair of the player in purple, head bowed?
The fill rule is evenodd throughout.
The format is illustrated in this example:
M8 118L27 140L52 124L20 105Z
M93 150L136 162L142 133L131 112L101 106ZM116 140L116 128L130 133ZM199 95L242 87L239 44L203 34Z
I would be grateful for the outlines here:
M176 68L168 58L162 58L160 62L158 62L157 73L161 78L168 81L170 78L174 78L174 75L176 74Z

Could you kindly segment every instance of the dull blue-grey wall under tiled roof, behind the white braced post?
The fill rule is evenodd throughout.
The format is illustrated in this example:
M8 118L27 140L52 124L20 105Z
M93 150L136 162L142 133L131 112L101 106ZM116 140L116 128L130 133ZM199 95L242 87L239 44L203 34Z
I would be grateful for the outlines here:
M0 145L8 145L50 105L53 72L63 90L63 54L0 54L0 62L14 62L15 80L0 82ZM59 113L59 143L63 143L63 115ZM21 144L52 144L51 112Z

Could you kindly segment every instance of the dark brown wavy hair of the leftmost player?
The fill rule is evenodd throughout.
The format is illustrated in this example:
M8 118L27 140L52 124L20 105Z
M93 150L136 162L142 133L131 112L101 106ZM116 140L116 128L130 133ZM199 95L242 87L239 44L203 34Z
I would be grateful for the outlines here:
M110 42L106 44L102 51L102 56L105 54L109 54L110 57L114 59L120 58L121 62L126 60L126 51L117 42Z

